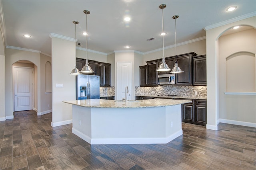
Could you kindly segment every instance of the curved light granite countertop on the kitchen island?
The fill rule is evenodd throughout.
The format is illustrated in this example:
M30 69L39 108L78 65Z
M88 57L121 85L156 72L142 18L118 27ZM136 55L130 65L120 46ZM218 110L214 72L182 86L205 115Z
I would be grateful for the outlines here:
M142 107L162 107L185 104L191 100L131 100L125 103L121 100L104 100L104 99L88 99L88 100L71 100L63 101L64 103L73 104L82 107L98 107L98 108L142 108Z

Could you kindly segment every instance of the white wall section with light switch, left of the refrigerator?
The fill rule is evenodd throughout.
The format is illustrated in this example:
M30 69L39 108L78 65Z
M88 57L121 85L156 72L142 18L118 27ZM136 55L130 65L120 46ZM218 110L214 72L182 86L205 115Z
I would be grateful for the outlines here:
M74 42L52 37L52 126L72 123L72 105L65 100L76 99L76 76L70 75L74 68ZM56 88L56 84L63 84Z

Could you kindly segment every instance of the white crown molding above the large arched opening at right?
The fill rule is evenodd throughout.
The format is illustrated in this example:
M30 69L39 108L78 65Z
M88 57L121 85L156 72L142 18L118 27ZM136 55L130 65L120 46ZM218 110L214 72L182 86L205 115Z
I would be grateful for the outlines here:
M220 27L220 26L223 26L223 25L226 25L226 24L230 24L230 23L233 23L233 22L236 22L236 21L240 21L240 20L244 20L244 19L247 19L247 18L251 18L251 17L254 17L254 16L256 16L256 12L251 12L249 14L238 16L238 17L232 18L230 20L226 20L226 21L222 21L222 22L219 22L219 23L215 23L215 24L206 26L206 27L204 27L204 30L207 31L209 29Z

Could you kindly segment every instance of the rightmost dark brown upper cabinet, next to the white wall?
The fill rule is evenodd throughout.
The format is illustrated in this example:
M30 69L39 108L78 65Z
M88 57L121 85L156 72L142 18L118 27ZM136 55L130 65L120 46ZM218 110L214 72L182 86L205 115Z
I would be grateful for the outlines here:
M193 85L206 85L206 55L193 57Z

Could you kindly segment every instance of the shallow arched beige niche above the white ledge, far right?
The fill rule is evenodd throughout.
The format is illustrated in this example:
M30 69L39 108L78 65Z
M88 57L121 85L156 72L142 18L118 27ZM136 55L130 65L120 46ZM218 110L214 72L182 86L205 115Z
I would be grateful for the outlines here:
M246 51L226 57L226 92L256 92L255 63Z

